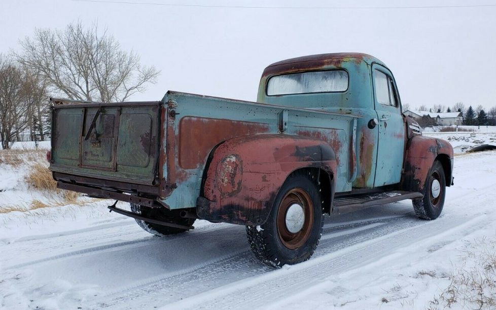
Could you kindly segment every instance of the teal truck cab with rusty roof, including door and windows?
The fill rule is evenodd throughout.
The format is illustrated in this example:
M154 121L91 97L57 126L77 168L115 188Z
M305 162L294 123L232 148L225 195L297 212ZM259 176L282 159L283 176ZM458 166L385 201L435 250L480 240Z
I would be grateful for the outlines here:
M290 83L295 80L331 87L318 86L316 91L303 93L296 89L299 84ZM375 57L338 53L276 62L264 70L257 101L359 115L360 173L352 187L400 182L406 123L393 73Z

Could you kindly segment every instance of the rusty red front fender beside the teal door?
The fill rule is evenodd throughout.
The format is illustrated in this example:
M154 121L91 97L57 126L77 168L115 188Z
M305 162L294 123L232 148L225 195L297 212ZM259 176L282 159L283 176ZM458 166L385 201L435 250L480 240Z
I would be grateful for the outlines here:
M401 180L403 190L423 192L432 164L441 161L446 175L446 186L451 185L453 171L453 147L448 141L414 136L406 146L404 173Z

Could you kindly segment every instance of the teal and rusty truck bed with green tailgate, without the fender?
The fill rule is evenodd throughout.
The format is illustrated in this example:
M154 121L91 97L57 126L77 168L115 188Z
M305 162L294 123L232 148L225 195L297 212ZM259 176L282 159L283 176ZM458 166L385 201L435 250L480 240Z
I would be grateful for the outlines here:
M336 192L351 190L356 175L357 115L172 91L152 102L52 101L58 181L131 192L169 209L195 207L211 150L238 136L320 139L336 153Z

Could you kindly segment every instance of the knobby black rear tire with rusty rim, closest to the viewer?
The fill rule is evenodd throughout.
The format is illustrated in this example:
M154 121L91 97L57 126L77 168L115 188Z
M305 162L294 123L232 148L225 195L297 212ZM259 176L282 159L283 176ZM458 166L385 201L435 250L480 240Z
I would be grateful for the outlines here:
M300 212L304 216L301 229L292 233L286 217L294 204L302 208ZM282 214L284 219L281 219ZM321 239L323 224L322 199L316 177L307 171L294 172L277 193L265 224L246 226L246 236L258 259L269 266L281 267L312 256Z

